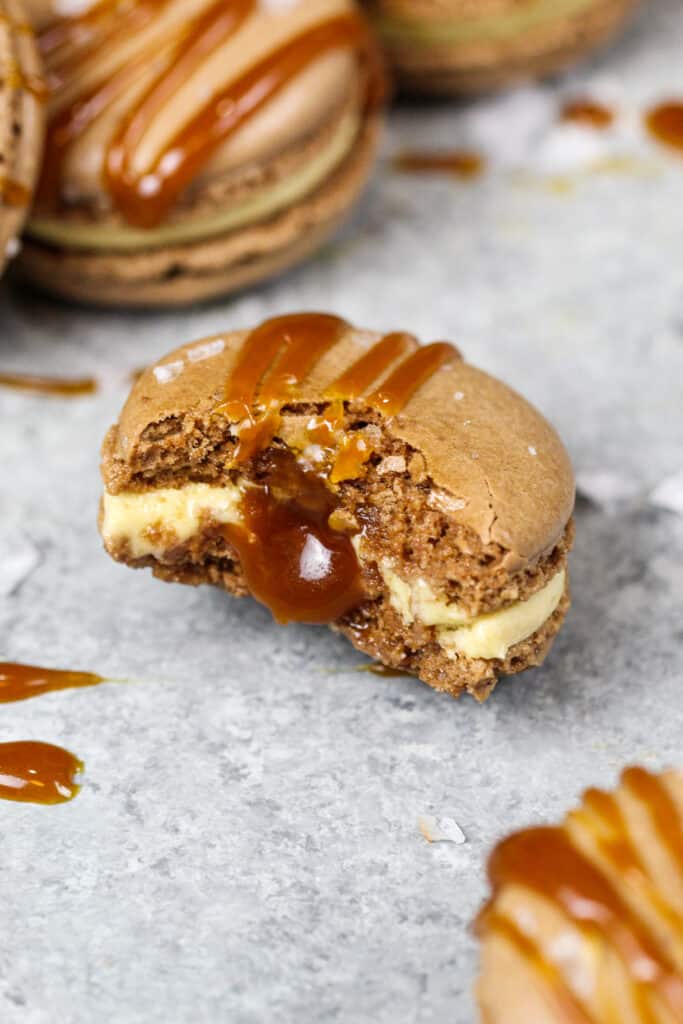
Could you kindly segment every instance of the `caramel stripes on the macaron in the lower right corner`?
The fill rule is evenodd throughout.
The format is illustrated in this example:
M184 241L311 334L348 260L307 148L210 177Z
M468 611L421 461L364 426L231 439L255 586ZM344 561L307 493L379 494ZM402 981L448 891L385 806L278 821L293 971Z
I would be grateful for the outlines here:
M683 821L664 781L642 768L630 768L622 784L639 802L657 841L683 874ZM683 916L649 876L615 797L591 790L569 820L574 816L590 830L611 870L628 879L665 918L676 940L683 940ZM572 841L566 826L531 828L511 836L494 851L488 874L494 897L479 916L479 934L498 934L516 948L543 989L559 1000L563 1019L572 1024L594 1020L578 1005L550 951L537 937L522 932L518 920L510 921L499 910L496 897L503 887L532 892L566 916L587 941L597 938L608 944L624 965L643 1024L656 1024L659 1019L654 1010L656 1000L677 1020L683 1020L683 977L670 949L622 897L603 868Z

